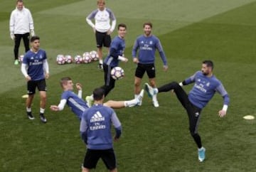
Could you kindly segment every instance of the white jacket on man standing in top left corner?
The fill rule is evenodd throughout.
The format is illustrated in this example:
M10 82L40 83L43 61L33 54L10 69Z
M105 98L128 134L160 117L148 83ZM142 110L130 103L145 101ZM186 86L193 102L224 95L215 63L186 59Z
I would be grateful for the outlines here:
M21 11L17 8L11 12L10 32L14 34L29 33L34 30L33 18L29 9L23 7Z

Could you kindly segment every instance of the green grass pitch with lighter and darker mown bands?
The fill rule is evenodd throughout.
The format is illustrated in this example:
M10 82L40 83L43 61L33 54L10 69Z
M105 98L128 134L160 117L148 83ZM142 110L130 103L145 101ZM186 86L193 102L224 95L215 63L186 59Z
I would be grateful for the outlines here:
M82 54L95 50L95 38L85 17L96 8L96 0L25 1L33 14L41 48L48 53L50 78L48 102L58 104L62 90L60 77L70 76L83 85L83 97L103 84L97 63L57 65L56 55ZM80 171L85 145L79 121L68 107L62 112L46 109L47 124L38 117L38 95L33 102L36 119L26 117L26 81L14 66L13 42L9 38L9 16L15 1L1 0L0 6L0 171ZM109 0L117 23L127 23L127 64L125 77L117 81L107 100L134 97L135 65L131 50L142 34L142 23L151 21L169 61L169 71L161 70L157 54L156 83L181 81L200 70L201 61L211 59L214 73L230 95L228 115L218 117L223 100L217 94L203 109L199 133L206 147L206 161L198 162L196 144L188 131L188 117L175 95L158 95L159 108L144 96L142 107L117 109L123 135L114 143L119 171L255 171L256 123L242 119L256 115L256 1ZM112 34L117 35L115 30ZM21 43L20 54L23 53ZM105 52L106 53L106 52ZM146 75L143 82L147 82ZM191 86L186 86L186 91ZM99 161L95 171L107 171Z

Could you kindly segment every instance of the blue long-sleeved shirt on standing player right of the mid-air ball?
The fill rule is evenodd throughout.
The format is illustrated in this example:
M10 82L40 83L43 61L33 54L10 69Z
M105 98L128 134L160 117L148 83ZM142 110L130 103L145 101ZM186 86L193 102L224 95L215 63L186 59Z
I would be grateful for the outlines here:
M156 49L159 50L159 54L164 65L167 65L166 56L161 46L161 42L159 41L159 38L157 38L154 35L151 35L149 37L146 37L144 35L139 36L136 39L134 46L132 48L132 57L138 57L139 63L152 64L155 62ZM138 56L137 50L139 50Z

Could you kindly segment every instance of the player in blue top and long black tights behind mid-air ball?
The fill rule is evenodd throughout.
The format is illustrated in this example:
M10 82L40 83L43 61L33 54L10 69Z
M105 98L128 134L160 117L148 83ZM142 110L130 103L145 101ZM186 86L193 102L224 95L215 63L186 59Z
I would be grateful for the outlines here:
M105 97L107 97L109 92L114 88L115 80L111 77L112 68L117 67L119 61L122 61L124 63L127 63L128 61L127 58L124 58L124 37L127 33L127 26L124 23L120 23L117 26L117 33L118 36L116 36L111 42L110 53L107 55L107 58L105 58L103 63L105 85L102 85L102 89L105 92ZM92 95L87 96L86 100L89 104L92 104Z

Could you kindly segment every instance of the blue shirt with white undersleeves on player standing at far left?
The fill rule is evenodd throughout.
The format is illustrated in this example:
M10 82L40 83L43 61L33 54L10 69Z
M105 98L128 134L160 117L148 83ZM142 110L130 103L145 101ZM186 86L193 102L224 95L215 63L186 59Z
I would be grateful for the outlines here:
M46 60L46 51L39 49L34 53L31 50L24 55L22 63L28 66L28 75L31 80L43 80L45 78L43 72L43 60Z

